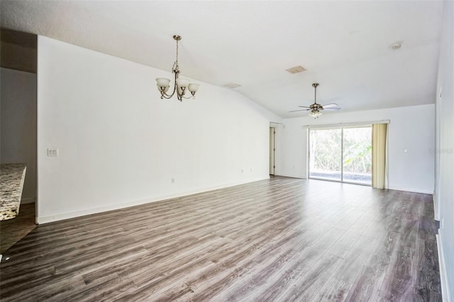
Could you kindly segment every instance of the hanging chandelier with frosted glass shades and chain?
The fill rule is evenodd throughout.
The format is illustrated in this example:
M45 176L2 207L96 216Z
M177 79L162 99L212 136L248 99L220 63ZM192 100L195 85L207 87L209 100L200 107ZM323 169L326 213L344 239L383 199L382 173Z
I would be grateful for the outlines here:
M177 93L178 101L182 101L183 99L195 99L196 91L199 89L199 84L189 83L188 79L179 79L179 67L178 67L178 41L182 40L182 37L179 35L174 35L173 39L177 41L177 59L173 63L172 73L175 74L175 82L173 84L173 92L172 94L167 94L170 88L170 79L165 78L157 78L156 79L156 86L157 90L161 93L161 99L170 99L174 96L175 92ZM186 92L189 91L191 96L184 96Z

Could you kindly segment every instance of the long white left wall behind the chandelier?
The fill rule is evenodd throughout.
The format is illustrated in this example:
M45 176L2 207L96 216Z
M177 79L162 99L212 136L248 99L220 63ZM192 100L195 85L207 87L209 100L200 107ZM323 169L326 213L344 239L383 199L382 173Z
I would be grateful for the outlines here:
M161 100L156 77L172 74L38 37L39 223L269 177L277 116L206 83Z

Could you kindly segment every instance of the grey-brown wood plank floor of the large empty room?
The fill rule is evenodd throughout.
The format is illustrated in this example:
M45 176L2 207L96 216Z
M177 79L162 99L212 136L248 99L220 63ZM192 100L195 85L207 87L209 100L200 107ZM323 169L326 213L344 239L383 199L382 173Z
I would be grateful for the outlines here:
M441 301L432 197L274 177L38 225L2 301Z

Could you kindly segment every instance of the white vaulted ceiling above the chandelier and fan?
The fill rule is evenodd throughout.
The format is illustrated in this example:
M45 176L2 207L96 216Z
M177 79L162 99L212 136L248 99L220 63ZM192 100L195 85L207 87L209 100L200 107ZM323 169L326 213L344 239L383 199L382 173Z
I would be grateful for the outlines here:
M1 1L1 27L236 91L283 118L434 103L443 1ZM402 41L402 48L389 46ZM297 65L307 71L289 74ZM155 79L150 79L155 85ZM203 85L200 90L203 89ZM329 113L336 114L336 113Z

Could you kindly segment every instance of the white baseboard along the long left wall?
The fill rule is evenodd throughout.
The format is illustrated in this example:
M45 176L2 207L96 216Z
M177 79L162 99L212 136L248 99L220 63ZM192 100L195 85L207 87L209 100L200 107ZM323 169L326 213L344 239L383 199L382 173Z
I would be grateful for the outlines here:
M140 206L141 204L145 204L145 203L164 201L164 200L170 199L170 198L188 196L188 195L202 193L202 192L206 192L206 191L213 191L213 190L217 190L217 189L228 188L229 186L238 186L240 184L248 184L253 181L260 181L260 180L269 179L269 178L270 177L268 176L268 177L260 177L257 179L235 181L235 182L231 182L231 183L227 183L227 184L220 184L218 186L206 187L203 189L184 191L184 192L179 192L176 194L169 194L169 195L165 195L165 196L156 196L156 197L142 199L142 200L138 200L138 201L128 201L125 203L117 203L117 204L113 204L113 205L109 205L109 206L101 206L99 208L88 208L88 209L85 209L82 211L74 211L74 212L70 212L70 213L60 213L60 214L56 214L56 215L52 215L52 216L42 216L42 217L37 216L36 223L38 223L38 224L52 223L52 222L58 221L58 220L65 220L65 219L76 218L76 217L80 217L80 216L92 215L92 214L96 214L96 213L114 211L114 210L118 210L121 208L129 208L131 206ZM39 206L39 203L38 203L38 206Z

